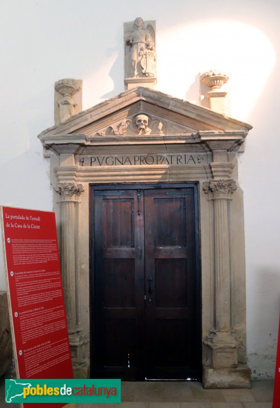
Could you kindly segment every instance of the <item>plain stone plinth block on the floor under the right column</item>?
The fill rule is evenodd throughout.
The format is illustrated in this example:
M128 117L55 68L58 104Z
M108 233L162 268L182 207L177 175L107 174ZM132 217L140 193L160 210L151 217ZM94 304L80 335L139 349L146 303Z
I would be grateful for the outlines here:
M243 365L236 368L203 367L202 386L206 389L251 388L251 370Z

